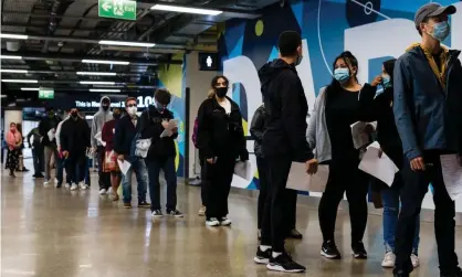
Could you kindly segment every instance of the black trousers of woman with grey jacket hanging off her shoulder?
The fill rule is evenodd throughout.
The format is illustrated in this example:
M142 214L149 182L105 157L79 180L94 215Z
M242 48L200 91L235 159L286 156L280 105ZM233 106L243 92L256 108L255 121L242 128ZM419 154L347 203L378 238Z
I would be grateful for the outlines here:
M351 244L361 242L367 224L369 177L358 169L358 158L333 159L329 178L319 202L319 225L324 242L334 241L338 204L346 196L351 222ZM413 237L413 236L412 236ZM410 254L409 254L410 255Z

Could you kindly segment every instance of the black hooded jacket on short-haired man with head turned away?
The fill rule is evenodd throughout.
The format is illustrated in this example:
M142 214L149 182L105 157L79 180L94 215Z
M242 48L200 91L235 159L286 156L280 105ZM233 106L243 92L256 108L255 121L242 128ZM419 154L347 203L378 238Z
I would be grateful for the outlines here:
M277 58L263 65L259 77L266 109L263 155L300 162L313 159L306 140L308 104L295 65Z

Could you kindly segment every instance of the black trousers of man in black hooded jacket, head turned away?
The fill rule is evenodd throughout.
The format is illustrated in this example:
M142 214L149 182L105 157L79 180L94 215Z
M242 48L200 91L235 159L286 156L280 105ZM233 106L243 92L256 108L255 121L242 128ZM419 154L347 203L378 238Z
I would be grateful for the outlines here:
M285 189L292 160L286 157L267 157L267 194L262 221L262 245L273 252L284 252L287 235L286 211L296 199L296 191Z

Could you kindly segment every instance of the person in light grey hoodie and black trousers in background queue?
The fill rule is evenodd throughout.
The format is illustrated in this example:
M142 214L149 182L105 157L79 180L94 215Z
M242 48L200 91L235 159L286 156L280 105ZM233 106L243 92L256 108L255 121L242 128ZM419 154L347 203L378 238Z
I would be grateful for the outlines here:
M109 110L111 99L107 96L101 98L99 110L93 116L92 122L92 150L96 152L98 159L98 183L99 194L111 193L111 173L103 171L105 149L101 140L96 139L96 135L101 135L104 124L113 120L113 113Z

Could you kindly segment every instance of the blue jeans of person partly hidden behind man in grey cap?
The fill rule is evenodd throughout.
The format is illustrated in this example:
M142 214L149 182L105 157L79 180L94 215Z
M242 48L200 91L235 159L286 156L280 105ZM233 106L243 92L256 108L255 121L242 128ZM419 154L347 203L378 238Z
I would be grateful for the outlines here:
M401 178L397 174L396 178ZM381 191L381 201L384 204L384 245L385 251L395 253L395 238L398 225L398 215L400 209L399 191L385 189ZM416 234L413 236L412 253L418 255L420 242L420 216L416 220Z

